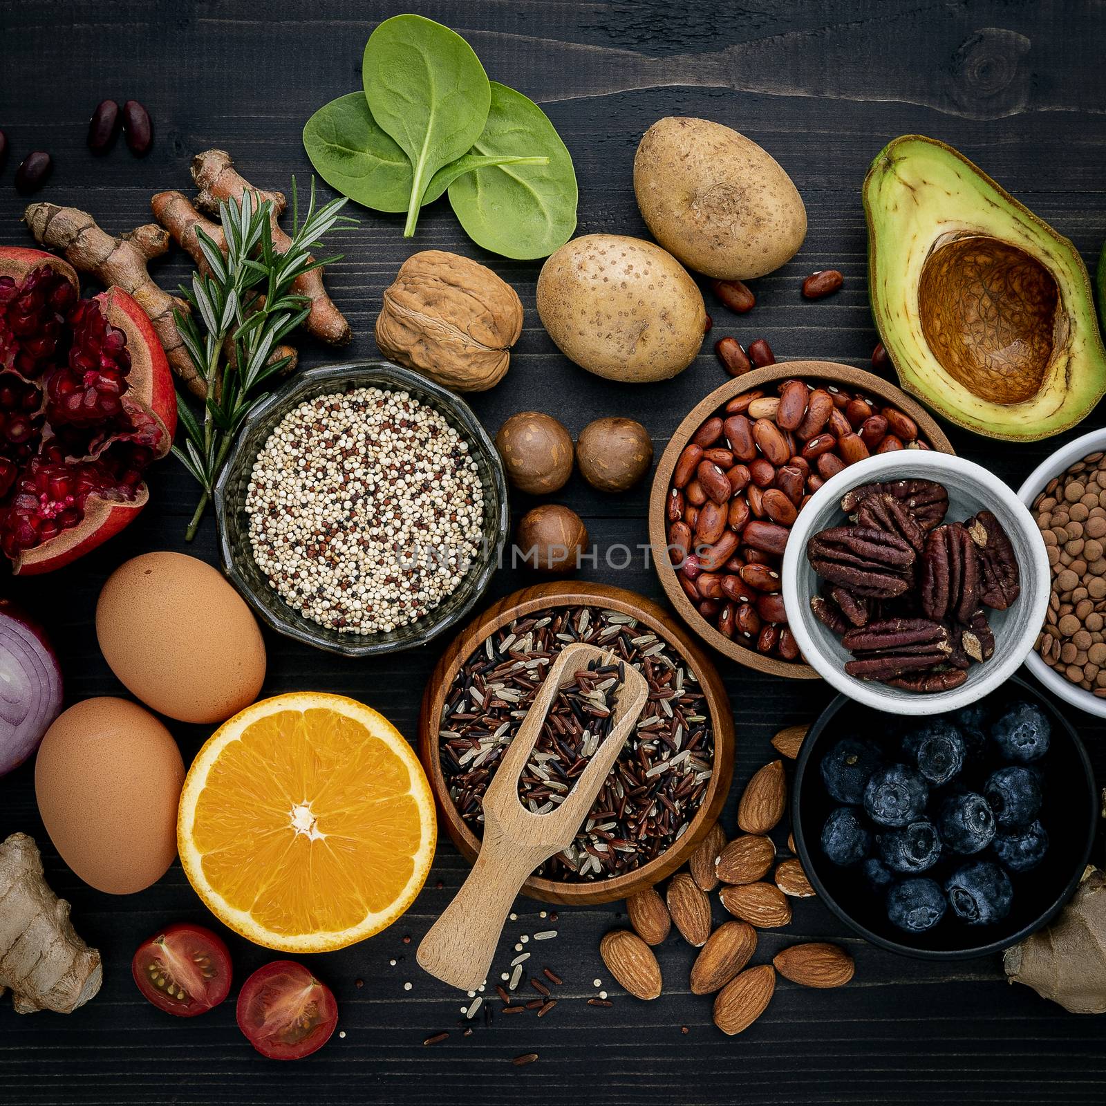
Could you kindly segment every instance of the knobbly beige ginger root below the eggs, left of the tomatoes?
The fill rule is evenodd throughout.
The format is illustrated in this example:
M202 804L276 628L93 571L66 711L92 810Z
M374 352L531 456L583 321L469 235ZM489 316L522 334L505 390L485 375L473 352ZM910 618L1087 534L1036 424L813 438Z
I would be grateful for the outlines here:
M77 937L69 911L34 842L13 833L0 843L0 994L10 988L17 1013L71 1014L100 990L100 953Z

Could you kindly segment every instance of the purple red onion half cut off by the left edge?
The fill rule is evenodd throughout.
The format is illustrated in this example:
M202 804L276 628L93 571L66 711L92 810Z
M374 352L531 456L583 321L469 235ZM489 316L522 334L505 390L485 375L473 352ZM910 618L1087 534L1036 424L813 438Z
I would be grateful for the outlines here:
M38 623L0 599L0 775L19 768L62 709L62 670Z

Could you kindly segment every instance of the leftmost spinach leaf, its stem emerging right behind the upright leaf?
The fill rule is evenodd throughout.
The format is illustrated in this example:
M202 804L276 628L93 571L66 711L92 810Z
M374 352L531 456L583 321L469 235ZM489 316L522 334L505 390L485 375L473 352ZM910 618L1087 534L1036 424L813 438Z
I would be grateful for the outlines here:
M320 107L303 128L303 147L315 171L344 196L377 211L407 210L411 164L395 139L376 125L363 92L338 96ZM422 205L441 196L462 173L488 165L547 161L547 157L466 154L434 175Z

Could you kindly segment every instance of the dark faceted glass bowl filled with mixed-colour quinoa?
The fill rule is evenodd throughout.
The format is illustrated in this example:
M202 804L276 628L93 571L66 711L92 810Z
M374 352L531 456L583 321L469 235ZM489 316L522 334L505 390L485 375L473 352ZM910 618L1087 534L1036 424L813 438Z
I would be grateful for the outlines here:
M361 657L463 618L509 529L502 462L476 416L388 362L307 369L261 400L216 511L223 570L254 612Z

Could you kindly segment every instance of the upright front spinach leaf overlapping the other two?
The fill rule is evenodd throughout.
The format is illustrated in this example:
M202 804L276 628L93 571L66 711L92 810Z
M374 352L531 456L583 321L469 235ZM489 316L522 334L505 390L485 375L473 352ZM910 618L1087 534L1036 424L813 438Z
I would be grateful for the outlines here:
M491 104L488 75L472 48L448 27L421 15L394 15L365 43L362 77L373 118L410 159L404 227L410 238L435 173L467 154L483 131Z

